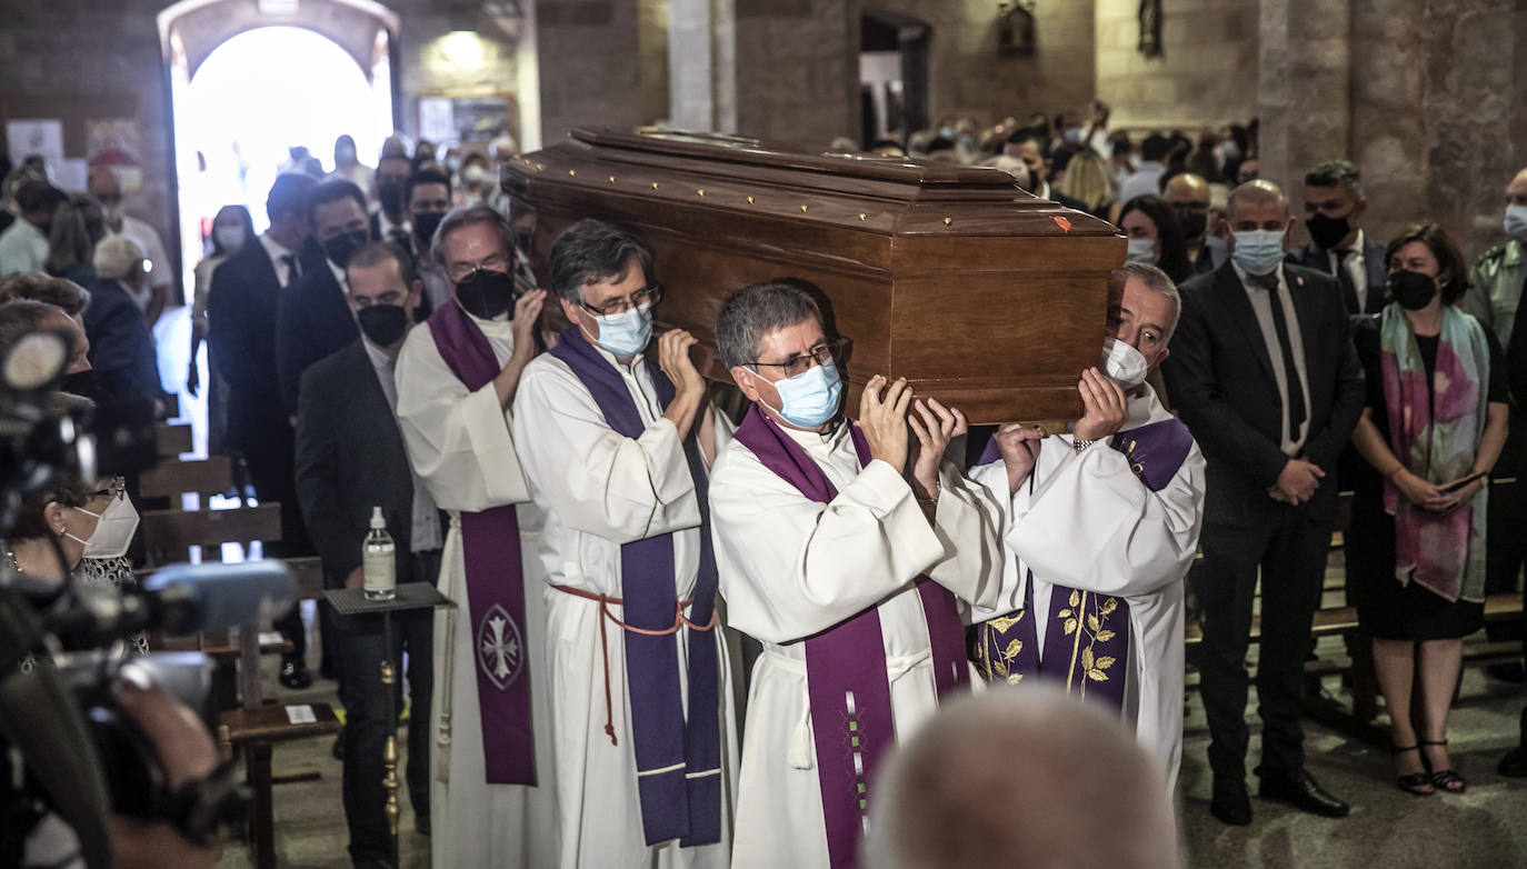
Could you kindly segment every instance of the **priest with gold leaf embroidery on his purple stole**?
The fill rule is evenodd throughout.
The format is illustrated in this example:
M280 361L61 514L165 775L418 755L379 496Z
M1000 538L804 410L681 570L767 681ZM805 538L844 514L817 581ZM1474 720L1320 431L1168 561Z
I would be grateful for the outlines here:
M1203 457L1145 383L1167 359L1177 290L1154 266L1109 279L1102 362L1083 373L1069 435L997 431L971 478L1002 504L1000 600L973 611L991 681L1041 680L1109 704L1176 785L1183 591L1203 525Z

